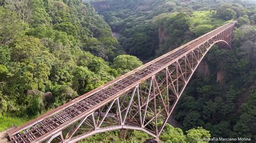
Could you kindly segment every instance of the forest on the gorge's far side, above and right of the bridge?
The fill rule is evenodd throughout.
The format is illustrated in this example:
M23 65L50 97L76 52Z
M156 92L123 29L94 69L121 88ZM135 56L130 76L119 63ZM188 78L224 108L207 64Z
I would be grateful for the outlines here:
M92 4L123 50L142 61L237 19L232 49L211 49L181 97L174 118L183 131L201 126L211 137L256 139L255 4L150 0Z

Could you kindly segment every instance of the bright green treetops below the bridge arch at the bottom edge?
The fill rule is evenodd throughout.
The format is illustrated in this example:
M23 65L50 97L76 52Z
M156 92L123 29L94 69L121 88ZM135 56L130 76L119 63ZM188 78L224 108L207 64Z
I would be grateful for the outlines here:
M126 137L124 139L118 137L120 132L125 132ZM170 124L166 124L163 132L160 135L160 140L164 142L200 142L198 138L210 138L209 131L204 130L201 127L192 128L186 131L186 134L178 128L173 127ZM148 134L142 131L111 131L93 135L81 142L98 142L98 141L112 141L112 142L144 142L152 139Z

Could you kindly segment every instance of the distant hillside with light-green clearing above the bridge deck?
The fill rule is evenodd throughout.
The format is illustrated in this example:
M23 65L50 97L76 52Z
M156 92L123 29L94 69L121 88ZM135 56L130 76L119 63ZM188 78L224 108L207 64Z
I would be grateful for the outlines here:
M215 17L214 10L220 3L213 1L185 4L112 0L92 4L105 17L124 51L143 61L169 52L225 23ZM231 10L241 12L237 6L232 6Z

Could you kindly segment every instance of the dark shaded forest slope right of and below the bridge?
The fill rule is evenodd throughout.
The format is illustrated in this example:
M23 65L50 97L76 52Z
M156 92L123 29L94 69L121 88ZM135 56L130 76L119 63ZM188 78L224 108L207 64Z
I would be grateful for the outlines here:
M254 92L247 92L255 89L255 35L255 27L241 26L234 31L232 50L213 48L206 55L211 76L194 75L176 109L177 120L181 121L184 130L203 126L213 137L243 136L255 140L248 126L255 118L251 112L253 108L246 113L241 111L244 105L253 101L250 97L253 98ZM220 70L225 71L222 82L216 79ZM244 100L247 96L249 98Z

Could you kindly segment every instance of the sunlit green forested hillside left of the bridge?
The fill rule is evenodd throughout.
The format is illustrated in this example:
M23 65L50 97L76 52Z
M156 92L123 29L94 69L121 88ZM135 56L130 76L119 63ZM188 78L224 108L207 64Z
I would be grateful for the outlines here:
M122 51L88 3L5 1L0 19L1 115L41 115L119 75L102 58Z

